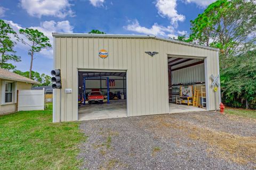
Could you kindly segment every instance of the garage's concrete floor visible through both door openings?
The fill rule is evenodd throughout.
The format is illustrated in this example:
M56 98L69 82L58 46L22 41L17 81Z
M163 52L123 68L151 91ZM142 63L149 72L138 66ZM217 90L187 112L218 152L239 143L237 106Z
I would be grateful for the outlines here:
M169 103L170 114L191 111L205 111L205 109L187 106L185 104ZM78 120L106 119L126 116L126 100L111 100L110 104L107 104L106 101L103 104L86 103L78 108Z

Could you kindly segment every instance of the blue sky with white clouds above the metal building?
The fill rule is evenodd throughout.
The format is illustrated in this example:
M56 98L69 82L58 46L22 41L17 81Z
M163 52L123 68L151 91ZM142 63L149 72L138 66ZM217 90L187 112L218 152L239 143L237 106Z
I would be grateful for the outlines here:
M174 37L189 34L190 20L215 0L16 0L0 1L0 18L18 31L34 28L51 39L52 32L88 33L99 29L107 34L146 34ZM29 70L28 47L15 47L21 62L17 69ZM35 55L33 70L49 74L52 49Z

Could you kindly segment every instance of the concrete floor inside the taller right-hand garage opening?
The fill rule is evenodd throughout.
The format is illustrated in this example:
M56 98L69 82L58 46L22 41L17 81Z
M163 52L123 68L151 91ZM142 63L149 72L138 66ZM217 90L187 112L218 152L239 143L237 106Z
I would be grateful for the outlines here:
M175 104L169 103L169 113L181 113L181 112L190 112L190 111L205 111L206 109L194 107L194 106L187 106L187 104Z

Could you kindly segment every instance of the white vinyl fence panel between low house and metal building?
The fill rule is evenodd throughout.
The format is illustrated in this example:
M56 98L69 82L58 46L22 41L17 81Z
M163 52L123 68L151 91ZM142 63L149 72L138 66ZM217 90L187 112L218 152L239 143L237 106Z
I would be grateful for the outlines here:
M44 110L44 89L19 90L18 111L21 110Z

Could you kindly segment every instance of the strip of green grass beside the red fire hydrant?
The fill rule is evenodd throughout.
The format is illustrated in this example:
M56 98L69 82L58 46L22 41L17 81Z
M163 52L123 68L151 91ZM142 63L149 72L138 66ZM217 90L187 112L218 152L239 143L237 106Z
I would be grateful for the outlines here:
M256 110L250 109L225 108L225 114L256 119Z

